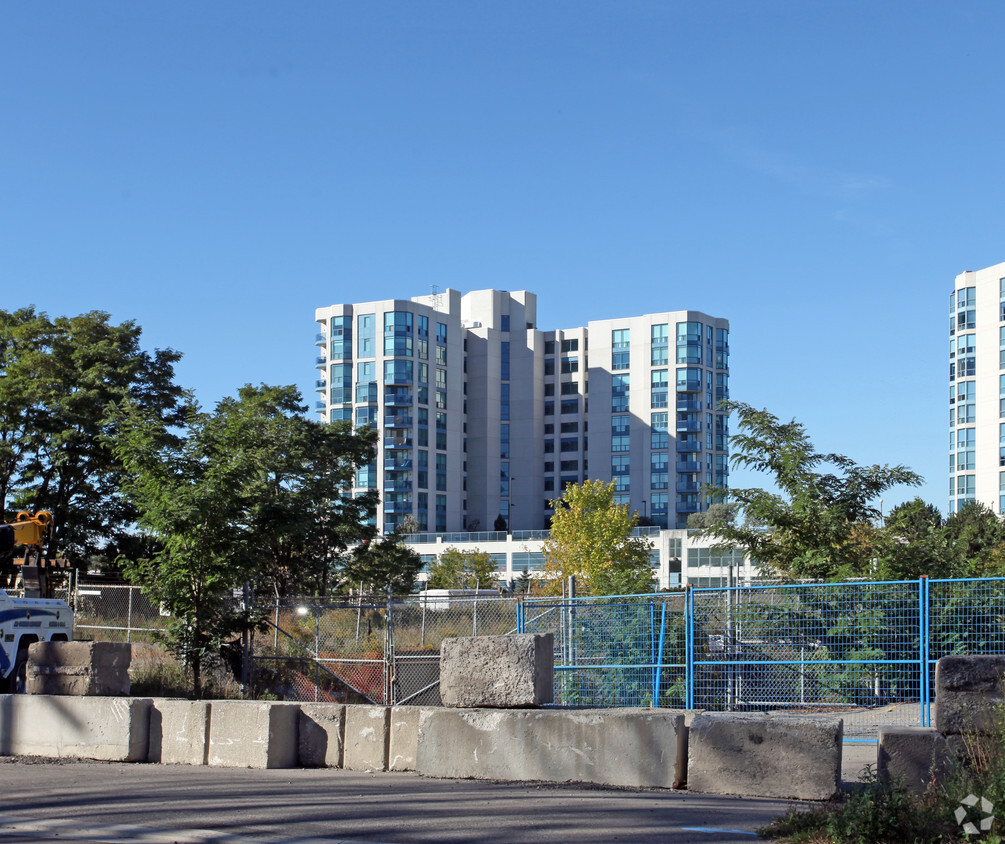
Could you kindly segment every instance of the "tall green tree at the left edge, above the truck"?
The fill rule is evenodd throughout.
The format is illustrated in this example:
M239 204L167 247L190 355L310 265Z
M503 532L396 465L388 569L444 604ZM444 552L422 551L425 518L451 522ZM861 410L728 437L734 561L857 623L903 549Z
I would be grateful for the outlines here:
M48 509L48 553L108 560L136 513L119 494L109 446L130 401L173 425L184 412L171 350L140 347L141 330L92 311L50 320L33 307L0 310L0 514Z

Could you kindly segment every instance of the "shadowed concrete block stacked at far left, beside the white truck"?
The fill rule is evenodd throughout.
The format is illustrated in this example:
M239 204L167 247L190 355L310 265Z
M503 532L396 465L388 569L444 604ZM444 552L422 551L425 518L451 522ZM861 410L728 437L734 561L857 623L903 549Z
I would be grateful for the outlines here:
M130 691L130 645L35 642L28 648L28 694L111 696Z

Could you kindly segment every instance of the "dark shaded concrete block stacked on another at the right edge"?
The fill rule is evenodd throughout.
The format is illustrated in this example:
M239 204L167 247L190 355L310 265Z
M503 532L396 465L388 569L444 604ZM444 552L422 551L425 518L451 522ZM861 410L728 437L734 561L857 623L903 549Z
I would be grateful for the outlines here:
M936 728L994 732L1005 702L1005 656L944 656L936 663Z

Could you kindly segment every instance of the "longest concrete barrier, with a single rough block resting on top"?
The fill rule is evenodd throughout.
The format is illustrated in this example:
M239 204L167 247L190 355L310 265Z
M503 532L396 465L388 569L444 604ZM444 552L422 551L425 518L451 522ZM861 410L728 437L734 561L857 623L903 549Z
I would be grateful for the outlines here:
M683 750L683 715L666 709L423 708L416 771L669 789Z

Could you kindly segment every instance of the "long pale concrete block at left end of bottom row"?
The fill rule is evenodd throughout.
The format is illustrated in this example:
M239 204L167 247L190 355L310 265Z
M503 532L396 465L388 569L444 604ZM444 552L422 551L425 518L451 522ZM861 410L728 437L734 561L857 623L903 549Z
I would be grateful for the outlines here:
M0 695L0 756L143 762L150 707L145 697Z

